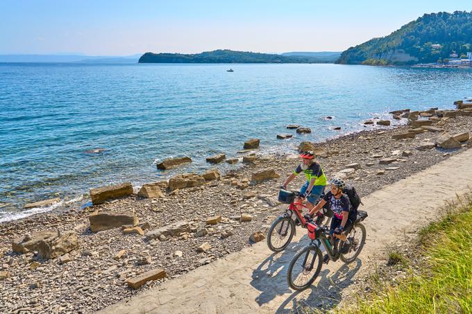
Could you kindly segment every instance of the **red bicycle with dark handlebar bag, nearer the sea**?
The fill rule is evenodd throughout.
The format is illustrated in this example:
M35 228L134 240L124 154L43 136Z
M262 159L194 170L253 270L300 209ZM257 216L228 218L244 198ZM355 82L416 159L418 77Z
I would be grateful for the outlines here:
M295 234L295 220L297 221L297 225L300 224L303 228L307 225L307 221L301 213L301 210L307 207L303 204L303 198L301 198L300 192L287 191L280 188L278 201L289 204L289 208L285 210L285 213L274 220L267 232L267 246L273 252L285 250L285 247L292 241ZM321 225L323 218L323 214L319 211L317 219L318 225Z

